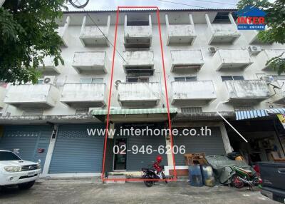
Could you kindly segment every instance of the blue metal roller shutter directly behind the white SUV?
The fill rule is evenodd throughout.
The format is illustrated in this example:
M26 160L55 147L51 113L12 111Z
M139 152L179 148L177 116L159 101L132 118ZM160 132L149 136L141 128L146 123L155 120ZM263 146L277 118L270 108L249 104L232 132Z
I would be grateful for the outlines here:
M19 149L19 156L22 159L35 162L41 159L43 167L51 132L51 126L6 126L3 138L0 138L0 149L7 151ZM43 148L43 153L38 153L38 148Z

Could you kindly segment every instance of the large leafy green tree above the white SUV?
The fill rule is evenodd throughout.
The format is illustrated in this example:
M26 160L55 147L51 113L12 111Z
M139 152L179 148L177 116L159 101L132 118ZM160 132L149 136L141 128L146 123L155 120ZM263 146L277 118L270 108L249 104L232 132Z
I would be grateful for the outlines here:
M36 83L37 67L45 56L56 66L61 41L56 19L63 14L65 0L6 0L0 8L0 81Z

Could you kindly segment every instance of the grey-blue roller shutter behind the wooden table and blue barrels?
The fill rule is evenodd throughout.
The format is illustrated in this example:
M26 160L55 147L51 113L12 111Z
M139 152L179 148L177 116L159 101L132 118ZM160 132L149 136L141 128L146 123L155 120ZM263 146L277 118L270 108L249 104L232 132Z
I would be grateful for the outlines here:
M206 153L206 155L225 155L224 143L222 141L219 127L208 127L211 129L211 136L174 136L174 145L185 146L186 153ZM195 128L196 129L196 128ZM199 133L199 128L197 128ZM185 158L182 154L175 155L176 165L185 165Z

